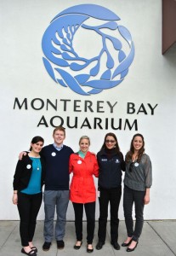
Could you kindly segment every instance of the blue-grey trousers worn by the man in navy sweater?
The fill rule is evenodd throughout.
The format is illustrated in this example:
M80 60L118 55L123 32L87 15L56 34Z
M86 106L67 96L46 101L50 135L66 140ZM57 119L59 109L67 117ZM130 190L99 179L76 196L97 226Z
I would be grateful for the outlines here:
M45 190L44 201L44 239L51 242L54 236L54 212L57 220L55 224L56 241L63 240L65 236L66 211L69 203L69 190Z

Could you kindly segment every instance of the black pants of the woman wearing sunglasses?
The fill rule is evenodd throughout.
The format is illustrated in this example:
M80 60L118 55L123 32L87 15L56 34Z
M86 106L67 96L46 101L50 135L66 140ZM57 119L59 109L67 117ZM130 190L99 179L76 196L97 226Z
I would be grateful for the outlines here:
M121 201L122 187L116 189L99 189L99 241L105 242L108 204L111 212L111 241L118 240L118 208Z

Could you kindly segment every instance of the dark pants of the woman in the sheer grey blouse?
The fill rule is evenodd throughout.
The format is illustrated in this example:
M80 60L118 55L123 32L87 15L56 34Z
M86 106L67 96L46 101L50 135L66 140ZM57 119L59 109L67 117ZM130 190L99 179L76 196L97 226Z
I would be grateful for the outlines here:
M124 196L123 196L123 209L125 216L125 224L127 227L128 236L132 237L134 241L139 240L139 236L142 233L142 228L144 224L144 198L145 191L137 191L129 189L127 186L124 187ZM133 203L135 207L135 228L133 230Z

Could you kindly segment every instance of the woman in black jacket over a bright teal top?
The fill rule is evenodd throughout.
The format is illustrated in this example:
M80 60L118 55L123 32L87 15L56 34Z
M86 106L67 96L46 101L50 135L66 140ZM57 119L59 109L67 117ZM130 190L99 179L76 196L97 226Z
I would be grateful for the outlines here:
M20 214L21 253L37 255L37 247L32 244L36 228L37 214L42 204L44 183L44 162L40 158L43 137L33 137L30 152L19 160L14 173L13 203Z

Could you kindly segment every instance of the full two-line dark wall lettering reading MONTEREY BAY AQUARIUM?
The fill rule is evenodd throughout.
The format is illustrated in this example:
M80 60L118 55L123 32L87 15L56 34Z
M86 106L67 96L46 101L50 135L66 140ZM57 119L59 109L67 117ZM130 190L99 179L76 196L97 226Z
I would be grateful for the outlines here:
M133 102L127 102L126 114L145 114L154 115L157 104L152 106L150 103L134 104ZM36 110L57 112L56 115L48 118L44 114L37 123L37 127L56 127L58 125L66 126L70 129L100 129L100 130L134 130L138 131L137 119L122 119L118 117L118 102L109 101L82 101L82 100L70 100L70 99L45 99L34 98L29 100L24 98L20 100L18 97L14 99L14 109L18 110ZM61 113L71 113L68 115ZM58 114L59 113L59 114ZM75 113L75 116L74 116ZM80 113L80 114L78 114ZM91 116L85 116L82 113L92 113ZM93 114L99 114L99 116L93 116Z

